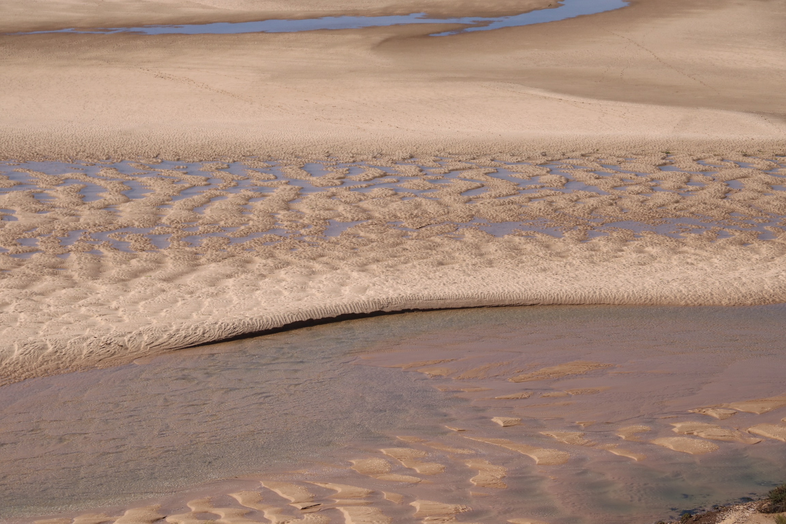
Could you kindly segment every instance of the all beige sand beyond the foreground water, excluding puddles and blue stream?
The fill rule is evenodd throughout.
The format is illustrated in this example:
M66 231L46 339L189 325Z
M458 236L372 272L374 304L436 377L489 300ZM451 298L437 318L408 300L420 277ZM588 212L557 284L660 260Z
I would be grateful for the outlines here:
M0 19L6 30L238 21L278 16L284 6L42 1L31 9L4 2ZM286 8L295 17L413 9L368 2ZM432 2L418 9L461 16L512 7ZM123 184L130 178L110 168L98 182L102 199L86 202L64 176L20 168L53 200L24 191L0 196L0 212L9 217L0 222L7 250L0 253L6 326L0 383L345 313L783 301L782 227L768 241L744 232L723 241L638 236L624 225L603 238L586 233L598 216L656 223L701 215L747 228L751 220L784 216L786 204L773 188L782 182L775 155L786 151L784 16L780 2L637 0L613 12L449 38L428 36L445 26L0 35L0 158L147 160L141 169L152 174L142 181L145 197L128 201ZM174 167L155 171L160 159L219 158L246 159L248 169L230 174L226 163L206 163L204 174L222 185L185 199L178 193L186 185L198 190L204 179ZM278 178L263 159L285 161ZM373 182L384 171L369 166L347 177L336 167L341 159L399 169L395 195L389 187L343 191L345 178ZM494 173L501 159L527 160L516 177L537 178L533 187L545 186L542 194L510 198L512 182ZM313 176L305 169L309 160L328 172ZM552 176L547 161L569 168ZM648 178L591 172L605 162ZM660 174L663 165L675 170ZM431 178L438 168L472 170L472 181L446 189ZM274 196L254 188L233 192L244 177L274 188ZM566 180L598 189L562 194ZM323 192L304 198L293 187L299 181ZM485 200L466 200L462 193L477 188L487 191ZM430 189L428 198L405 200L405 191ZM522 218L575 232L556 239L483 231L451 237L452 223ZM235 236L257 235L277 225L303 231L330 220L365 222L335 240L275 246L266 240L277 236L230 245L221 233L240 228ZM397 223L417 233L402 236ZM95 255L83 240L65 250L55 240L124 227L172 235L170 246L157 249L148 233L116 232L110 238L130 250L107 247ZM193 227L219 236L195 248L181 241ZM43 252L9 256L35 251L25 244L31 231ZM423 367L431 374L451 369ZM497 371L467 372L469 378Z

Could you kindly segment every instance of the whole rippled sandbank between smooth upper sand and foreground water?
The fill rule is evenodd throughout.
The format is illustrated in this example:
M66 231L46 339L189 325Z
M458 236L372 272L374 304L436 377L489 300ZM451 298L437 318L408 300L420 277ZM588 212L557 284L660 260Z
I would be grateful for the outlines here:
M342 313L782 302L783 166L7 162L2 382Z

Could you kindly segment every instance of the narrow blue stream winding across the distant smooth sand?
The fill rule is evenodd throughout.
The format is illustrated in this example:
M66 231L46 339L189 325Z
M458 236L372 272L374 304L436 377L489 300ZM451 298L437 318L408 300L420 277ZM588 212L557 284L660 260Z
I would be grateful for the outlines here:
M456 35L469 31L490 31L501 27L519 27L523 25L556 22L575 16L604 13L620 9L628 5L625 0L562 0L553 9L538 9L529 13L514 16L487 17L461 16L453 18L428 18L425 13L394 16L325 16L323 18L305 20L260 20L257 22L216 22L213 24L186 25L149 25L142 27L101 27L93 30L60 29L57 31L32 31L17 33L19 35L35 35L39 33L141 33L142 35L237 35L240 33L292 33L298 31L315 31L320 29L359 29L362 27L384 27L403 24L461 24L468 25L457 31L435 33L432 36Z

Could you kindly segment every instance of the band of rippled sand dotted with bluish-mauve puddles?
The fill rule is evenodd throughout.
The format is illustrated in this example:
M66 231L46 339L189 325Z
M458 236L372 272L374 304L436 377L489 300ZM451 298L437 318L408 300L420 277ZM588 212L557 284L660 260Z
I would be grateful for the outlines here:
M0 253L248 251L367 236L383 222L403 237L773 240L786 225L784 166L782 157L719 156L3 162Z

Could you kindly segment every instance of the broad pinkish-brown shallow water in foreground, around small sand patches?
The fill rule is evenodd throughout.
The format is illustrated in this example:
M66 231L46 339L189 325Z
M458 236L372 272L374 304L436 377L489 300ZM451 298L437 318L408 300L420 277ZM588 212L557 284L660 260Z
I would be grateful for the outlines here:
M678 436L673 423L744 432L786 417L786 401L762 414L737 410L725 420L689 412L786 393L784 313L784 306L406 313L27 380L0 394L0 515L119 511L145 497L171 515L192 497L178 495L187 486L241 476L197 491L226 506L235 503L225 493L245 482L274 504L279 498L254 479L339 482L401 494L405 504L369 503L395 522L411 522L406 503L413 499L468 505L459 522L667 519L783 482L784 442L681 435L717 445L694 455L652 441ZM509 381L573 361L601 367ZM495 399L522 391L531 396ZM501 427L494 416L521 423ZM649 430L619 437L633 425ZM560 431L581 432L591 444L545 434ZM472 438L504 438L570 458L534 464ZM428 453L423 460L445 469L423 475L397 466L379 451L395 447ZM381 457L394 473L429 482L360 475L348 462ZM505 467L507 488L473 486L470 459ZM329 504L323 508L320 514L341 522Z

